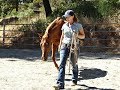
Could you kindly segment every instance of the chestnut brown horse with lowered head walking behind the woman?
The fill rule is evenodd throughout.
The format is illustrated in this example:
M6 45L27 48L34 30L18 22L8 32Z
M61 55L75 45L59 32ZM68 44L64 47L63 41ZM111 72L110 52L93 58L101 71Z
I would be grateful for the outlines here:
M60 43L60 37L62 34L61 28L64 24L64 20L58 17L46 28L46 31L41 39L40 46L42 50L42 60L46 61L48 53L52 49L52 60L55 67L58 69L58 64L55 60L55 52L58 49Z

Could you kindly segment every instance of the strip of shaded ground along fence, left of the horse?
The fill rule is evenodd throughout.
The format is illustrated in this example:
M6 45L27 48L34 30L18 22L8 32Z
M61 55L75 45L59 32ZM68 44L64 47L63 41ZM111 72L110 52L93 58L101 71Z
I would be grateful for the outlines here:
M40 49L0 49L0 58L15 58L28 61L41 59ZM9 61L15 61L14 59Z

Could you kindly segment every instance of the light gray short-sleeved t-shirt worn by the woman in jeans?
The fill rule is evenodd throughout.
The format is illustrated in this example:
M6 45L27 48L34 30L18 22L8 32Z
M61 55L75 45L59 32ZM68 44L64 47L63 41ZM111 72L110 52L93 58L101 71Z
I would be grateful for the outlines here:
M72 40L72 34L73 32L78 33L80 29L82 29L82 25L75 22L72 25L70 25L69 23L65 23L63 24L61 30L64 33L64 38L62 40L62 43L65 44L70 44L71 40Z

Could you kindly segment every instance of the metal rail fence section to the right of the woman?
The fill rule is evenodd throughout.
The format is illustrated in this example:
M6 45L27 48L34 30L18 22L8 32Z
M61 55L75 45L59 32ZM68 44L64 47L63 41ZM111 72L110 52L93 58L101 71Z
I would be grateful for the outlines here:
M82 41L83 51L120 51L120 24L96 24L84 26L86 38Z

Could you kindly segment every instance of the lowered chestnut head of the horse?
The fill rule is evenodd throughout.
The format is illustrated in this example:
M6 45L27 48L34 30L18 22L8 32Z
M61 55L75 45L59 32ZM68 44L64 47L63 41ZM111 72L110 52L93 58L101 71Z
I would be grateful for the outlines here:
M42 60L46 61L47 57L48 57L48 53L50 51L51 48L51 43L48 40L48 37L46 35L44 35L42 37L42 40L40 42L40 46L41 46L41 50L42 50Z

